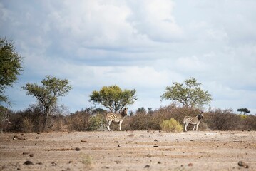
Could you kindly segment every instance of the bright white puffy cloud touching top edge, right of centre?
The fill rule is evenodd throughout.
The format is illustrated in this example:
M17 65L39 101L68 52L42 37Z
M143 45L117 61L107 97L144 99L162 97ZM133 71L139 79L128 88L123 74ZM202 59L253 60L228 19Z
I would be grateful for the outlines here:
M176 24L172 1L136 1L130 4L132 13L128 21L138 31L153 41L176 41L183 31Z

